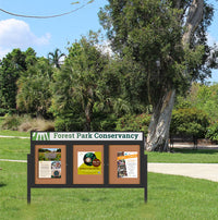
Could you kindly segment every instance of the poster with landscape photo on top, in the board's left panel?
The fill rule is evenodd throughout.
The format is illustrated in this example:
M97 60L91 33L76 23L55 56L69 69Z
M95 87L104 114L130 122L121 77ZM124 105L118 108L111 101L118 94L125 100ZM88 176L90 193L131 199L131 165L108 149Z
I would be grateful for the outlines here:
M61 178L61 149L39 148L38 149L38 178Z

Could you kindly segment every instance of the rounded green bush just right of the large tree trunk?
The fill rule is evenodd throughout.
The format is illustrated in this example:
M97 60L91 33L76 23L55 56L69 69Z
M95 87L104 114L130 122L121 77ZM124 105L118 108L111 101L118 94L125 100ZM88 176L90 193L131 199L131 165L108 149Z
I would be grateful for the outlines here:
M208 115L196 108L178 109L172 111L170 125L171 135L205 137L209 125Z

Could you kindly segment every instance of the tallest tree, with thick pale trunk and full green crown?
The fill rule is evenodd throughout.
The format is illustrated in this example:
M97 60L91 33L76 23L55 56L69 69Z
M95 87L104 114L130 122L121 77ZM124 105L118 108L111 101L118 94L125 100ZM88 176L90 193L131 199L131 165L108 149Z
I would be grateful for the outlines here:
M206 38L211 16L204 0L109 0L99 13L113 50L137 66L144 101L153 106L147 150L167 150L175 94L215 66Z

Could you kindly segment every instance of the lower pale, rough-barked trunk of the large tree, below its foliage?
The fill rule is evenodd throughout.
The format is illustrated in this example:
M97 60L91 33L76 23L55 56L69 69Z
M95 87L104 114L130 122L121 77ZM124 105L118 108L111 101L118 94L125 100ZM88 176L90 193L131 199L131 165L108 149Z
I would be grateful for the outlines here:
M171 113L174 105L175 90L172 89L159 100L148 127L146 149L148 151L168 150Z

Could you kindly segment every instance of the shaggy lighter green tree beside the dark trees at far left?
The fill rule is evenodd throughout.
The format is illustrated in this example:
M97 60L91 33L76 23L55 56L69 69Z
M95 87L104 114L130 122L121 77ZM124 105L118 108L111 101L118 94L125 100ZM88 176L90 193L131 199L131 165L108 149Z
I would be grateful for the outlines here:
M51 105L50 84L52 68L45 58L38 58L34 65L23 72L17 81L17 110L32 115L47 118Z

